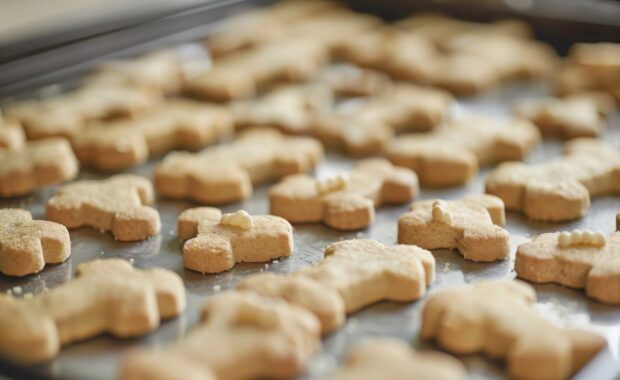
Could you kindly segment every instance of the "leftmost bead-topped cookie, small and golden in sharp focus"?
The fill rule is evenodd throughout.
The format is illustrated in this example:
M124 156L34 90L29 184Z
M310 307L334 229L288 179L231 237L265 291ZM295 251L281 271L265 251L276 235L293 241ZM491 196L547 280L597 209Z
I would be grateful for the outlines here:
M293 227L272 215L219 209L185 210L178 219L183 265L200 273L220 273L242 262L264 262L293 254Z

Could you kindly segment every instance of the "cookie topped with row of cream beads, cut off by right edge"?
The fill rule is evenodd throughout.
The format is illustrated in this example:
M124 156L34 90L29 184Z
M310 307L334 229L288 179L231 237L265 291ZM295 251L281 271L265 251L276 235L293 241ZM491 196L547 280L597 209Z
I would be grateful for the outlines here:
M620 232L542 234L517 248L517 276L585 289L597 301L620 304Z

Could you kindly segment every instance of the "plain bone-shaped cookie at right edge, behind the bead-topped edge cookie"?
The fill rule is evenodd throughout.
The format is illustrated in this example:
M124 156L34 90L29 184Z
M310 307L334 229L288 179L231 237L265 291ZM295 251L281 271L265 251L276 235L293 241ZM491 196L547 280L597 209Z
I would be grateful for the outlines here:
M613 148L595 139L574 139L565 144L562 158L534 166L499 165L486 178L486 192L532 220L574 220L586 214L591 197L620 191L619 171L620 154Z

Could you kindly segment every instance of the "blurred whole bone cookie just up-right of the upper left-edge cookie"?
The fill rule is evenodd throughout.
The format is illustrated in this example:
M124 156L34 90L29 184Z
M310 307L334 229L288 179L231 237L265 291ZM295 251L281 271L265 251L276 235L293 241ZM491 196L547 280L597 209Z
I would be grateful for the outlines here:
M149 155L200 149L232 129L233 118L225 108L175 99L132 120L89 126L75 136L73 148L83 164L116 171L142 163Z

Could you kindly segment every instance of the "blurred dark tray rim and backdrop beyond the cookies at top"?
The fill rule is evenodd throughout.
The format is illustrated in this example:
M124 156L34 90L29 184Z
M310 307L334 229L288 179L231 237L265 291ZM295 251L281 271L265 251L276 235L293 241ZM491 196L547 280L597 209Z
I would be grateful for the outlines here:
M526 19L564 54L571 42L619 41L620 2L612 0L349 0L394 20L436 11L470 20ZM259 0L0 0L0 95L84 73L96 62L210 34Z

